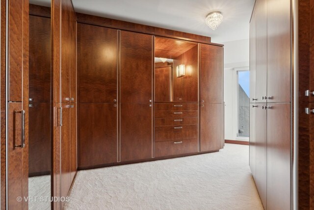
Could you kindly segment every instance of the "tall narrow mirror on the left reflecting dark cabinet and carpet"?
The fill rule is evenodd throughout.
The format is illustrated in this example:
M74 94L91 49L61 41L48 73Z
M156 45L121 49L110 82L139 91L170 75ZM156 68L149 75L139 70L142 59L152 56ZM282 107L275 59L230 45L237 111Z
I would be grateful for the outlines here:
M28 208L51 209L51 0L29 0ZM41 199L45 199L42 201Z

